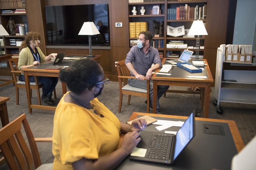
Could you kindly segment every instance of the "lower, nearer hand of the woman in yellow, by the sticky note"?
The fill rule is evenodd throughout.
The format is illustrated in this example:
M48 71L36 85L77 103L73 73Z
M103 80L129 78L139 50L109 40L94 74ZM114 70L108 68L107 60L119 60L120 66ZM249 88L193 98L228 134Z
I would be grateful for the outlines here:
M125 134L120 149L124 149L127 154L132 153L133 149L141 141L139 136L140 134L136 130Z

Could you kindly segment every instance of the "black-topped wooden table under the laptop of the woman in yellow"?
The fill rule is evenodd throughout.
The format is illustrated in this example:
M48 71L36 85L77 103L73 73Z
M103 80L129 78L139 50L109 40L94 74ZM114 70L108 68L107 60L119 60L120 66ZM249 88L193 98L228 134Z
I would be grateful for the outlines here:
M151 114L151 113L139 113L139 112L133 112L130 116L129 121L134 120L140 116L148 115L155 117L156 119L177 119L177 121L180 121L180 119L187 119L187 116L176 116L176 115L164 115L164 114ZM116 169L133 169L137 167L136 169L212 169L214 167L218 166L225 166L229 168L221 168L218 167L217 169L230 169L231 166L231 160L232 155L225 154L226 152L230 152L233 154L236 154L237 152L240 152L243 147L244 143L243 140L239 134L238 128L236 126L236 123L231 120L219 120L219 119L208 119L208 118L201 118L196 117L196 136L195 138L188 144L188 146L185 148L184 152L180 157L183 157L179 160L176 160L173 166L166 166L166 165L159 165L159 164L153 164L153 163L145 163L145 162L139 162L139 161L131 161L128 158L126 158ZM175 120L174 120L175 121ZM202 132L202 126L201 124L218 124L223 125L225 135L215 135L215 134L205 134ZM198 125L198 126L197 126ZM150 126L158 126L158 125L150 125ZM155 129L154 127L147 127L148 129ZM145 129L148 131L148 129ZM171 127L173 129L178 130L178 127ZM156 130L156 129L155 129ZM170 129L172 130L172 129ZM156 130L159 132L158 130ZM163 130L164 132L165 130ZM162 131L161 131L162 132ZM120 135L120 143L119 147L121 146L122 140L123 140L124 134ZM209 137L210 136L210 137ZM203 138L203 139L201 139ZM208 140L210 139L221 139L217 141L213 141L215 145L212 145L211 142ZM222 142L226 140L227 142L223 144ZM208 141L208 142L207 142ZM232 150L221 150L221 148L232 146ZM194 153L197 148L204 148L201 149L199 152ZM209 148L207 148L209 147ZM210 153L208 153L210 151ZM211 152L213 151L213 152ZM203 152L203 153L201 153ZM222 152L222 153L219 153ZM199 156L201 155L201 156ZM193 158L189 157L193 156ZM227 157L228 156L228 157ZM216 158L217 157L217 158ZM213 159L212 159L213 158ZM216 158L216 159L214 159ZM184 160L187 159L187 160ZM223 160L222 160L223 159ZM209 162L206 160L210 160ZM221 160L220 162L216 162L218 160ZM225 163L226 160L229 160L228 163ZM194 162L195 161L195 162ZM194 162L194 163L192 163ZM224 162L224 163L223 163ZM192 165L191 167L189 165ZM199 166L200 168L195 168L195 166ZM207 164L207 165L201 165L201 164ZM208 165L209 164L209 165ZM216 166L215 166L216 165ZM212 168L204 168L205 166L213 166Z

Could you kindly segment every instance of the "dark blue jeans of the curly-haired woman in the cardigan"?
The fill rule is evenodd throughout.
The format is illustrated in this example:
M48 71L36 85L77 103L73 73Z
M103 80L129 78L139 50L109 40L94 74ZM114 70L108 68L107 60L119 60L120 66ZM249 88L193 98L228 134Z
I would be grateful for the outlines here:
M30 76L30 82L36 82L34 76ZM58 77L38 77L38 82L43 84L42 91L44 95L47 95L49 92L52 93L54 88L58 83ZM25 76L22 75L22 81L25 81Z

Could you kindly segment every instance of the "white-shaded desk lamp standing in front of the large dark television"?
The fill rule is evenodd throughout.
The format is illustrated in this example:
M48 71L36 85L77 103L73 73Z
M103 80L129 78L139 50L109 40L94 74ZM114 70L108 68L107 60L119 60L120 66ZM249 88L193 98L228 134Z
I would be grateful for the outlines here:
M81 30L79 31L78 35L89 35L89 55L88 57L93 57L92 55L92 40L91 35L100 34L98 29L96 28L93 22L84 22Z

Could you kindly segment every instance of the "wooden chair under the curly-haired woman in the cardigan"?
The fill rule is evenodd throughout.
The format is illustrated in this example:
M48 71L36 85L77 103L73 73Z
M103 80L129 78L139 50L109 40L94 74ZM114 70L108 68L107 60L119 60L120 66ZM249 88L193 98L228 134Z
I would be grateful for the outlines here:
M15 90L16 90L16 104L19 104L19 88L26 88L25 82L24 81L18 81L16 76L19 76L22 71L19 71L18 69L18 61L19 58L13 58L8 60L9 65L10 65L10 69L11 69L11 73L13 76L13 81L15 84ZM13 66L13 63L15 64L15 69ZM41 97L40 97L40 88L43 87L43 84L38 82L38 78L35 76L35 82L30 82L30 88L31 88L31 95L32 95L32 89L36 89L37 91L37 99L38 99L38 104L41 105ZM56 96L56 90L54 89L54 98L57 99Z

